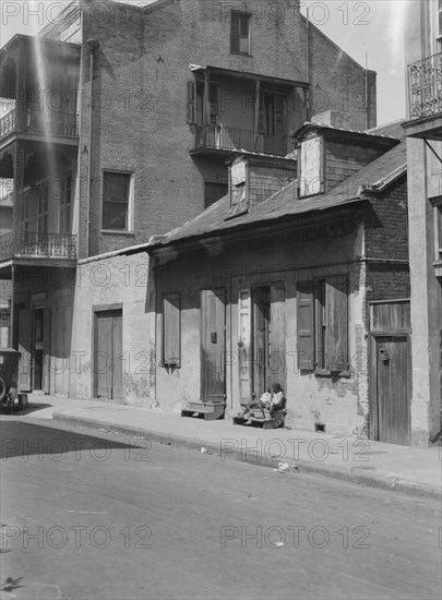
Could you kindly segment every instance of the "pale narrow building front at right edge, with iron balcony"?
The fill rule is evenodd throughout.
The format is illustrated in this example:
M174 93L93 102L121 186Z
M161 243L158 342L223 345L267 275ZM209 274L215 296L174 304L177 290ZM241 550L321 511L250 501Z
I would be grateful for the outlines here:
M442 2L407 2L414 443L442 430Z

